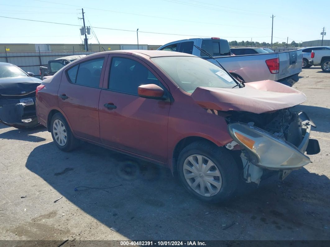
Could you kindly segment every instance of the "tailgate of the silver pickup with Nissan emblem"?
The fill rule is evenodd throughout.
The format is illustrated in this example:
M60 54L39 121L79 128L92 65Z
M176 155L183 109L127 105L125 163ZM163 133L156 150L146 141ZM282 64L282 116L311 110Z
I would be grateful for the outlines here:
M279 78L293 76L302 71L303 53L301 50L279 52L280 71Z

